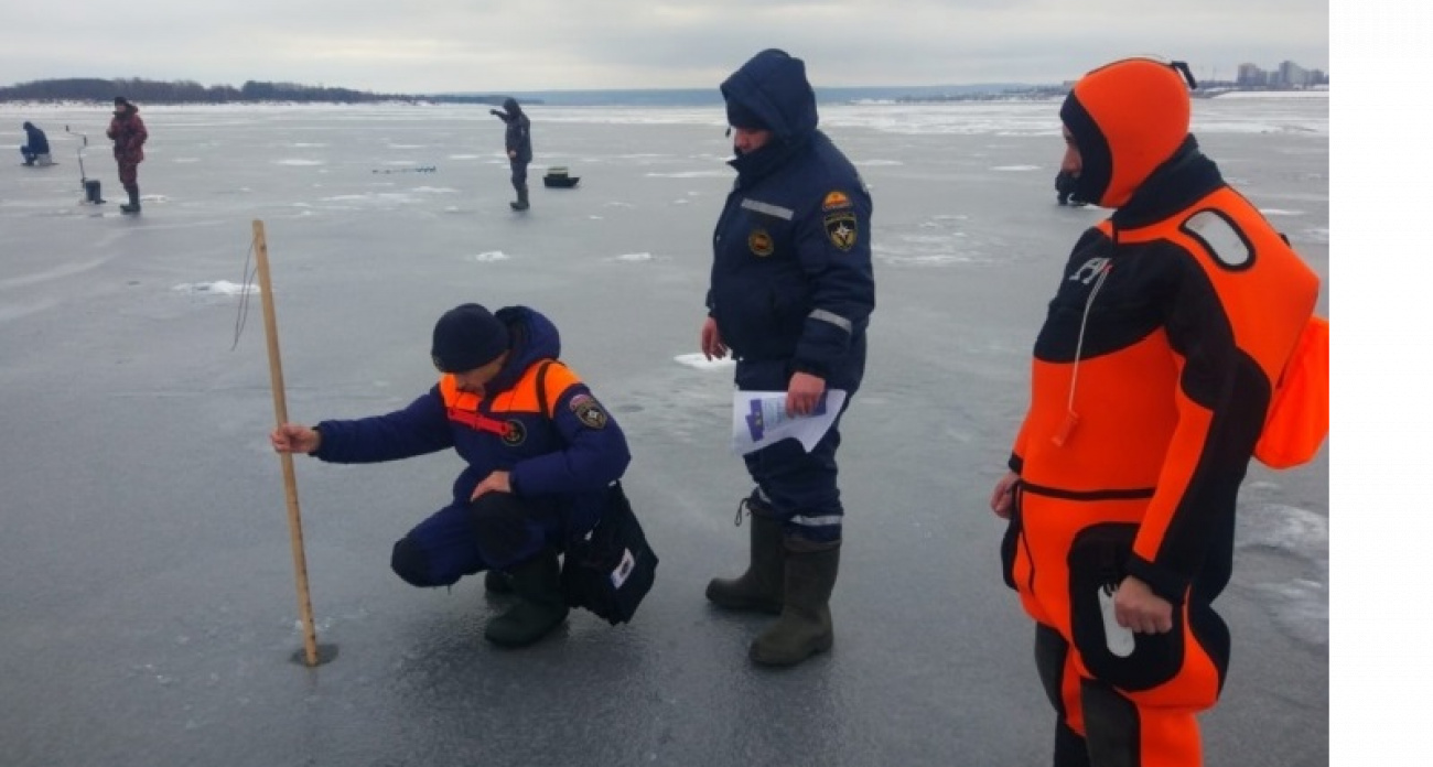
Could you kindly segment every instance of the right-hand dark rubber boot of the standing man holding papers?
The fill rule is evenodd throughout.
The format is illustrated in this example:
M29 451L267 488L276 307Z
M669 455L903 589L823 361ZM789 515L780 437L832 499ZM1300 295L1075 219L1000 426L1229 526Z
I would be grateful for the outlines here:
M818 552L787 549L785 606L781 618L751 642L751 659L761 665L797 665L831 649L831 589L841 562L840 543Z

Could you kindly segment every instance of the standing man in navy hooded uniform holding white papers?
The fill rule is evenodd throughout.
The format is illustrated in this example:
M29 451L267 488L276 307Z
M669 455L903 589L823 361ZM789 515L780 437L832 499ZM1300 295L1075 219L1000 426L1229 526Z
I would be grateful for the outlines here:
M729 351L737 387L785 391L792 416L811 414L827 390L844 390L850 404L876 307L870 194L817 130L801 59L762 50L721 92L737 182L712 241L702 351L708 358ZM835 486L838 427L840 414L810 453L788 439L745 456L757 483L742 500L751 563L739 578L708 583L706 598L780 615L751 645L758 664L795 665L831 648L828 604L844 513Z

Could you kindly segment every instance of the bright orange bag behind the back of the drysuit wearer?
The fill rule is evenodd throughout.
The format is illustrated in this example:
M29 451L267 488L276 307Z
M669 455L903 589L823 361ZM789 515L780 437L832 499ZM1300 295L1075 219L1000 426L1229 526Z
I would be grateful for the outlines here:
M1310 317L1268 403L1254 457L1271 469L1308 463L1328 436L1328 320Z

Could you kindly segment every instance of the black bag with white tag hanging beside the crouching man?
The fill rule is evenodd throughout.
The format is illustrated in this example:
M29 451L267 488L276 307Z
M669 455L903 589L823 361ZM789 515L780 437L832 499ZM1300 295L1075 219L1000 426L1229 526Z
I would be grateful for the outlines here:
M625 624L656 581L656 552L632 513L622 483L608 487L602 519L567 543L562 592L567 605L588 608L612 625Z

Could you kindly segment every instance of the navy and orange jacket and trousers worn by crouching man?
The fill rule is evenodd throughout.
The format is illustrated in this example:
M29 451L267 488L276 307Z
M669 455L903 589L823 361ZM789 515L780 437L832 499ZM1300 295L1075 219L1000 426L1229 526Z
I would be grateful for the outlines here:
M467 467L453 500L393 548L393 569L414 586L446 586L484 569L509 569L598 523L608 486L631 460L622 429L588 386L556 360L556 325L535 310L496 313L510 354L481 396L461 394L446 376L403 410L325 420L315 457L377 463L453 447ZM546 411L543 410L546 403ZM469 497L492 472L510 472L512 493Z

